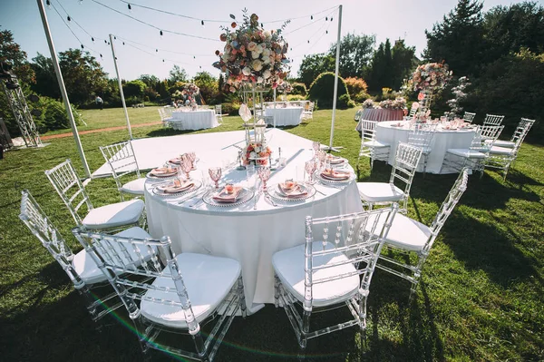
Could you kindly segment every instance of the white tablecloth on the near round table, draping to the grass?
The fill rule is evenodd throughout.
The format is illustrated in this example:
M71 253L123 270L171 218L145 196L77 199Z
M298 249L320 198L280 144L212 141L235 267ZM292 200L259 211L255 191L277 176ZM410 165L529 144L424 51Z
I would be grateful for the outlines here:
M312 158L311 141L305 142L306 148L282 146L287 166L272 171L267 182L269 187L286 179L296 179L297 168ZM217 163L213 155L196 151L200 161L191 177L200 179L207 177L209 166ZM222 181L249 186L246 171L235 168L224 172ZM179 204L180 199L154 194L153 185L151 180L146 181L145 203L151 236L170 236L175 253L209 253L237 259L242 267L249 313L262 308L263 303L274 303L272 255L305 242L306 216L324 217L363 210L355 181L342 187L316 184L318 192L314 197L306 201L280 201L277 207L261 196L257 210L254 210L255 199L233 207L214 207L200 202L191 208L198 199ZM304 268L304 259L300 260L300 267Z

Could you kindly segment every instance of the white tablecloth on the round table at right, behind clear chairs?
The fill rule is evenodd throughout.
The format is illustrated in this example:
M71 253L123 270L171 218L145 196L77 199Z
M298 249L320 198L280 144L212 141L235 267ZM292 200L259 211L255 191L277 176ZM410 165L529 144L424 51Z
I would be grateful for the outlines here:
M400 127L395 125L400 124ZM390 121L379 122L376 125L376 141L384 142L391 145L389 152L390 165L394 163L394 155L399 142L408 142L408 132L410 132L409 121ZM437 128L434 133L434 137L431 142L431 153L427 160L427 172L429 173L441 173L442 161L448 149L452 148L469 148L471 146L472 139L474 138L474 129L462 129L462 130L446 130L441 126ZM417 169L418 172L423 172L423 156L422 161ZM444 170L442 173L451 173L452 170Z

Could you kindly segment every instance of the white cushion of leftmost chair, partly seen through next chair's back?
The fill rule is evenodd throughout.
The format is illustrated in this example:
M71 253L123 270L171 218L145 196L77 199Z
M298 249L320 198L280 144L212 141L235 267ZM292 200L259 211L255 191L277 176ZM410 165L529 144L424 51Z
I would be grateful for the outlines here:
M115 235L134 239L151 238L150 234L148 234L145 230L139 227L122 230ZM121 252L121 249L118 245L113 244L113 248ZM129 251L129 253L131 253L131 256L134 260L138 259L136 253L131 248L127 248L127 250ZM146 256L144 256L144 259L149 259L149 253L147 253L147 258ZM102 273L100 269L98 269L98 266L96 265L92 257L87 254L87 251L85 249L75 254L72 260L72 266L75 272L83 279L86 284L100 283L107 280L106 276Z

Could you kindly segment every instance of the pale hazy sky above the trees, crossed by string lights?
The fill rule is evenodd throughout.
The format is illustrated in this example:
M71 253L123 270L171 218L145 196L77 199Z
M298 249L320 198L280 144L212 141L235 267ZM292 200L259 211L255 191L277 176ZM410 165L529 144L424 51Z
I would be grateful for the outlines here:
M43 0L45 3L45 0ZM542 4L542 1L538 1ZM341 34L374 34L376 46L389 38L404 39L420 55L426 45L425 30L440 22L457 0L50 0L46 15L57 53L81 44L102 64L109 77L116 78L112 48L105 44L113 34L121 79L141 74L167 78L174 64L189 76L207 71L219 76L211 64L222 51L220 25L229 26L229 15L241 21L242 10L255 13L265 29L277 29L291 19L284 30L293 59L291 75L296 75L305 54L327 51L336 41L339 6L343 5ZM128 3L131 10L128 9ZM517 2L486 0L484 11L496 5ZM173 13L163 14L141 6ZM57 14L58 12L58 14ZM59 15L60 14L60 15ZM67 21L67 16L71 21ZM127 15L132 16L131 19ZM188 17L183 17L183 16ZM313 19L312 19L313 17ZM191 19L192 18L192 19ZM325 20L326 18L326 20ZM202 25L204 20L204 25ZM142 24L141 22L147 24ZM151 24L155 27L151 27ZM0 30L10 30L31 60L37 53L51 56L36 0L0 0ZM163 35L160 36L160 30ZM176 32L180 34L172 34ZM186 34L186 35L182 35ZM190 36L188 36L190 35ZM92 42L92 37L94 42ZM124 45L122 44L124 42ZM102 54L102 57L101 57ZM453 70L454 71L454 70Z

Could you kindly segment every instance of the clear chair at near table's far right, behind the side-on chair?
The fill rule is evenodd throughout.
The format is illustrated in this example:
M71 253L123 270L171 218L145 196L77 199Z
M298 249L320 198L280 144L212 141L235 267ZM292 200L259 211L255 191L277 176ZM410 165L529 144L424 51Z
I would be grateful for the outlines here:
M364 206L372 210L374 205L397 202L400 205L399 210L405 214L413 176L421 157L422 149L399 142L389 182L357 182ZM403 189L397 187L395 181L403 185Z

